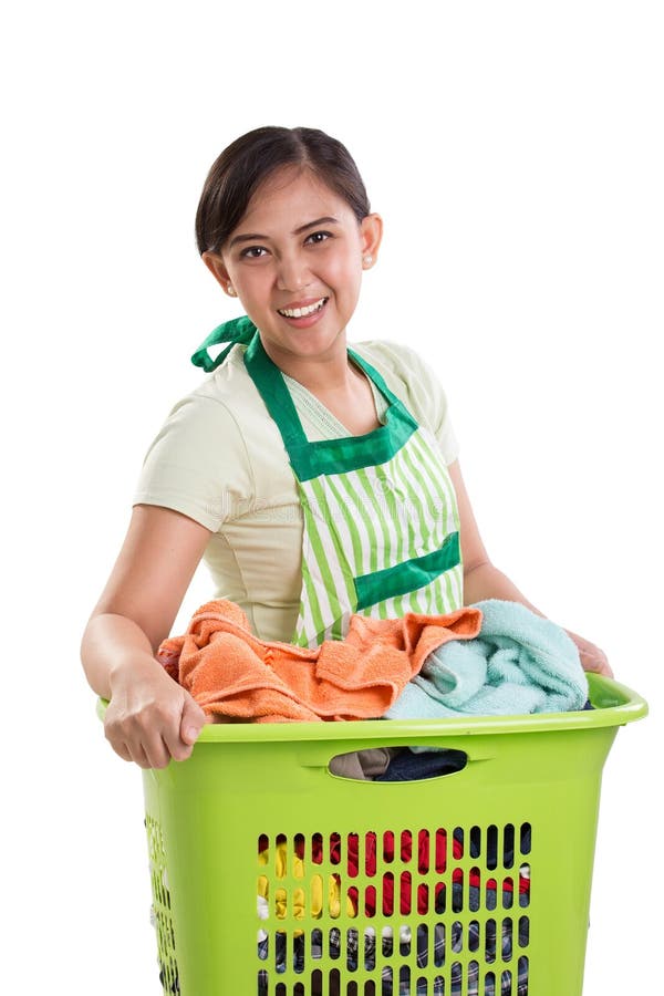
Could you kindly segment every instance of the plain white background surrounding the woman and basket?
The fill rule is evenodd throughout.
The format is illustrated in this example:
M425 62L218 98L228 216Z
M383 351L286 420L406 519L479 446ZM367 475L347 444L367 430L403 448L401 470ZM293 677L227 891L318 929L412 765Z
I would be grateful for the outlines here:
M188 356L236 313L195 250L205 174L251 127L305 124L350 147L385 219L351 338L430 361L495 562L650 701L604 772L584 992L653 992L661 4L17 9L0 25L2 989L159 993L141 779L104 741L79 640L144 452L199 380ZM208 594L201 574L178 626Z

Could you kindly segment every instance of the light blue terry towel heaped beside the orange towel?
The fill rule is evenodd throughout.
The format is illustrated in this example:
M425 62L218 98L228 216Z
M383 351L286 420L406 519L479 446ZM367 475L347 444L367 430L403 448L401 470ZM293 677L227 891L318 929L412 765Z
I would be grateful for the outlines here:
M575 643L518 602L478 602L475 640L452 640L428 655L385 714L387 719L509 716L582 709L588 679Z

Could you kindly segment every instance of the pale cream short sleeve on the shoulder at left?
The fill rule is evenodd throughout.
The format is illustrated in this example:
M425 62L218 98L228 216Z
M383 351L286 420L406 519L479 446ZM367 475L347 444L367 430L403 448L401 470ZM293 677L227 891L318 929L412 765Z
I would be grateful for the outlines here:
M159 505L217 532L252 499L241 433L227 406L193 394L179 402L152 443L133 497Z

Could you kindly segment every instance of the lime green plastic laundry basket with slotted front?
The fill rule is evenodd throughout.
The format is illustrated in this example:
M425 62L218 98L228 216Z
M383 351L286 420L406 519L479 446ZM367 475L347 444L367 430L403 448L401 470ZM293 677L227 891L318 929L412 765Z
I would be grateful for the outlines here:
M229 724L144 772L164 994L579 996L604 759L647 712ZM332 775L372 746L463 751L408 782Z

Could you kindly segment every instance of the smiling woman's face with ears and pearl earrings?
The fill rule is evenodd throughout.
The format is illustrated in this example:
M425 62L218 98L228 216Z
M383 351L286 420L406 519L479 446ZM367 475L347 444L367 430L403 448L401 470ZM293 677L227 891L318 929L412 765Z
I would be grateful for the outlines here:
M345 351L362 271L375 261L377 215L357 222L343 198L309 169L279 170L257 190L219 255L204 259L230 283L281 366Z

